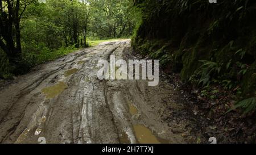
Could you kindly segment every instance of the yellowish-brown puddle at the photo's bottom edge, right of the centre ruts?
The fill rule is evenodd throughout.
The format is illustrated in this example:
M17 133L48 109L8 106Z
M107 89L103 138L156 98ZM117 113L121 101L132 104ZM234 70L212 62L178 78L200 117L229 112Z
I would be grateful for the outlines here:
M160 141L144 125L134 125L135 136L140 144L160 144Z

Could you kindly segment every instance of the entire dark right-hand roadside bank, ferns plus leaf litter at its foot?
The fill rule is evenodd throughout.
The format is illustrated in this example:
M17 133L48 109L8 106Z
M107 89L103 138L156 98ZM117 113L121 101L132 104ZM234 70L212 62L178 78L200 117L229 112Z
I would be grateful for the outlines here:
M159 59L167 74L181 78L185 98L193 103L189 111L201 124L195 128L208 137L255 143L255 5L250 0L134 1L142 15L132 40L135 51Z

